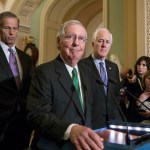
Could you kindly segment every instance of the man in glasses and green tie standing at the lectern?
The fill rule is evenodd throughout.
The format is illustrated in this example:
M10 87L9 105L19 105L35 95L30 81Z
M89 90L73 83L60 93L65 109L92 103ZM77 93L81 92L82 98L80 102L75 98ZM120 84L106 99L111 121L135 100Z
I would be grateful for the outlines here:
M35 70L27 103L28 119L35 127L33 150L103 148L102 139L90 129L94 82L88 69L78 65L86 39L86 30L79 21L65 22L57 34L60 54Z

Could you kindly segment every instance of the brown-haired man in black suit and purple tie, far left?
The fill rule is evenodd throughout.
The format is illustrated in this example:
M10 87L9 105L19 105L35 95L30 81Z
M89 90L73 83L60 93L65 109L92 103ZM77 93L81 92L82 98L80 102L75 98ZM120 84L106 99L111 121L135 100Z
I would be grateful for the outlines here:
M11 12L0 14L0 149L21 150L29 145L26 98L31 81L30 56L15 46L19 20ZM10 50L10 51L9 51ZM10 59L10 56L13 56ZM17 74L11 65L17 69ZM17 75L17 76L15 76Z

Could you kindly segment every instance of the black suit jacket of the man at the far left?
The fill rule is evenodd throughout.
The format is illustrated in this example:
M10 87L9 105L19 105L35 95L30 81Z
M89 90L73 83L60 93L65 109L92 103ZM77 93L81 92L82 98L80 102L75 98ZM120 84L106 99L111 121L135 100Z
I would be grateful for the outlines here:
M30 56L18 48L16 51L23 70L20 90L17 88L9 63L0 46L0 149L1 143L6 142L6 146L17 150L17 147L13 145L23 145L27 140L24 139L26 136L20 135L26 135L26 98L31 81L32 64Z

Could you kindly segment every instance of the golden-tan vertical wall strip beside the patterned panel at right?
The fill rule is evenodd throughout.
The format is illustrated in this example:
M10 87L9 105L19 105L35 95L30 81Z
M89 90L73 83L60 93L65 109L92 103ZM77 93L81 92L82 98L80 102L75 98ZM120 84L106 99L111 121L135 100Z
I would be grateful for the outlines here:
M124 0L124 66L133 68L137 59L136 0Z

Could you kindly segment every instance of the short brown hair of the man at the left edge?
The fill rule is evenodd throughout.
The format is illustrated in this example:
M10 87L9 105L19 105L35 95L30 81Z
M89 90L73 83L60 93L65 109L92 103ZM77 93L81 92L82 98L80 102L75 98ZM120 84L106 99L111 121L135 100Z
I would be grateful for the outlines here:
M3 18L16 18L18 20L18 27L19 27L19 18L12 12L10 11L4 11L0 13L0 27L3 26Z

